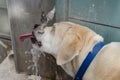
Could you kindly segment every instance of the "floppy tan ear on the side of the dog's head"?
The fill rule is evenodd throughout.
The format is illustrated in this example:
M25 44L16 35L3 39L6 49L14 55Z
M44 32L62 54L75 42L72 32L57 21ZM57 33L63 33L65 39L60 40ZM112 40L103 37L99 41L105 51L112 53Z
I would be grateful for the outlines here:
M75 56L79 54L78 46L79 38L75 34L66 34L63 38L63 41L58 49L57 53L57 64L63 65L69 61L71 61Z

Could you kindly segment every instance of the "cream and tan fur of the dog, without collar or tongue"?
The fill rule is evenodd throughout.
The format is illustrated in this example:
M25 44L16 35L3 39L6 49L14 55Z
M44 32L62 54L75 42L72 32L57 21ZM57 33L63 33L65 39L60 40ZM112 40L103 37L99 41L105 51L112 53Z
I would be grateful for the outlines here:
M43 34L34 31L42 42L41 51L51 53L58 65L75 76L83 60L96 43L103 38L91 29L72 22L55 23L46 27ZM83 80L120 80L120 43L105 45L97 54Z

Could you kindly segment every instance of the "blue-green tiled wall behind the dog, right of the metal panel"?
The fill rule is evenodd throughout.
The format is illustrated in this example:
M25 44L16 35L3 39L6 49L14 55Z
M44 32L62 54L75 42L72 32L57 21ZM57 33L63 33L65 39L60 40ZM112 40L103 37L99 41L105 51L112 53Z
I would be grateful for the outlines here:
M120 41L120 0L57 0L57 21L69 20L101 34L105 43Z

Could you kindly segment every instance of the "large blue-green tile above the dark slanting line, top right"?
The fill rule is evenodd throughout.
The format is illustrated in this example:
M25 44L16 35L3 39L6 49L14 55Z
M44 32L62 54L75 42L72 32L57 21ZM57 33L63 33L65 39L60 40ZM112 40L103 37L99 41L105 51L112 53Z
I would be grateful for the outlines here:
M120 27L120 0L69 0L69 17Z

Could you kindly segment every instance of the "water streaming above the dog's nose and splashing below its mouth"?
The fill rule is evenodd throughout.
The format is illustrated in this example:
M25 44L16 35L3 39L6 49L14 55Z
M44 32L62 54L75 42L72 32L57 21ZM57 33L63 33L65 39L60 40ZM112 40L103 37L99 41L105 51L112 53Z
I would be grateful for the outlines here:
M47 14L47 21L41 24L41 28L44 28L44 26L47 25L47 23L53 19L55 14L55 8L53 8L48 14ZM41 54L43 54L43 52L40 51L39 46L36 44L32 45L33 48L31 49L31 54L32 54L32 62L33 65L29 66L28 69L32 68L32 70L34 71L33 75L34 76L32 80L41 80L40 76L38 75L38 61L39 58L41 56ZM27 52L25 52L27 54ZM45 54L43 54L45 56ZM39 77L39 78L38 78Z

